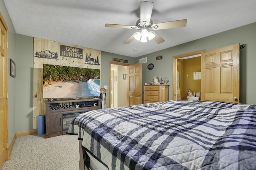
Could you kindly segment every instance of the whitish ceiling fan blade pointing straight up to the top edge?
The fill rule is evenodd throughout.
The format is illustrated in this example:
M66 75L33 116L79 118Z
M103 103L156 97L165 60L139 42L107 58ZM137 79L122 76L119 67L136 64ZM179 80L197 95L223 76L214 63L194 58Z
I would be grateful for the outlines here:
M153 6L153 2L140 1L140 23L144 25L150 23ZM146 21L146 23L144 21Z

